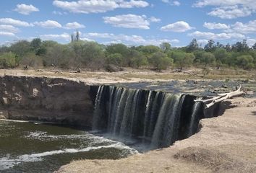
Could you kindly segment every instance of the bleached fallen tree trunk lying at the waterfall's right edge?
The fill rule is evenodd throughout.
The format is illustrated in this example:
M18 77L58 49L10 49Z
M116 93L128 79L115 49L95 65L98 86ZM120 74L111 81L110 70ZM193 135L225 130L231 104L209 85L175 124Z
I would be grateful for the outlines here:
M232 97L239 97L239 96L242 96L243 94L245 94L245 92L242 91L242 87L239 86L239 88L234 92L218 94L218 96L210 99L196 99L195 102L204 102L205 107L209 108L218 102L222 102L225 99L231 99Z

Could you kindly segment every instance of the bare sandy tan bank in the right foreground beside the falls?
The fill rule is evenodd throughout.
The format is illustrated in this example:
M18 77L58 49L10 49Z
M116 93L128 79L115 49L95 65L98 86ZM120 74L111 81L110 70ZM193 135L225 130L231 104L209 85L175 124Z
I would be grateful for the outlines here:
M81 160L67 172L256 172L256 99L236 98L219 117L203 119L199 133L173 146L119 160Z

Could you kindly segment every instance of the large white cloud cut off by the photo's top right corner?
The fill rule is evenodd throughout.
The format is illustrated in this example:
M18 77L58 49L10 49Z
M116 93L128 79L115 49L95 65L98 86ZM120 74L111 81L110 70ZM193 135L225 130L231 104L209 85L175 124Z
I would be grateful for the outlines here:
M208 14L222 19L246 17L256 13L255 0L199 0L193 6L214 6Z

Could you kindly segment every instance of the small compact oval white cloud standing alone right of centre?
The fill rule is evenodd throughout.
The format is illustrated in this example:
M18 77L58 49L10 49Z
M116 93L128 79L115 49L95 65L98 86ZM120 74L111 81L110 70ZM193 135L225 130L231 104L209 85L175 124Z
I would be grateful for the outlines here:
M162 31L172 31L172 32L186 32L187 30L192 30L187 22L179 21L166 26L161 27Z

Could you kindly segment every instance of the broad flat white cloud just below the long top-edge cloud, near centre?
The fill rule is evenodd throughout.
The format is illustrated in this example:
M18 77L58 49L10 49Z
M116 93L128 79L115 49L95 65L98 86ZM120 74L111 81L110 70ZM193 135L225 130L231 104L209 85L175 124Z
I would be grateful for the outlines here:
M111 24L114 27L137 28L142 30L150 29L150 22L148 22L145 15L124 14L115 17L103 17L103 19L106 24Z

